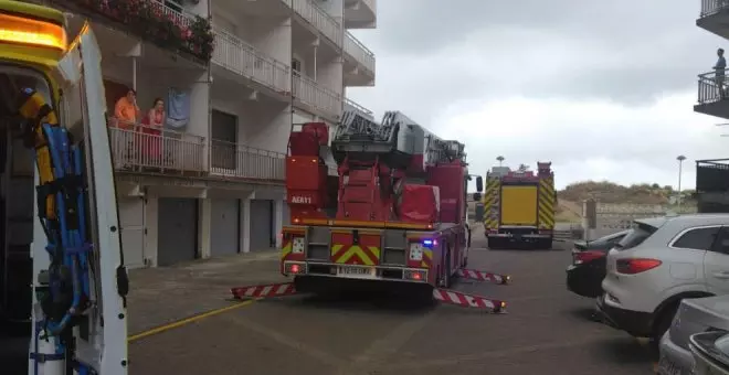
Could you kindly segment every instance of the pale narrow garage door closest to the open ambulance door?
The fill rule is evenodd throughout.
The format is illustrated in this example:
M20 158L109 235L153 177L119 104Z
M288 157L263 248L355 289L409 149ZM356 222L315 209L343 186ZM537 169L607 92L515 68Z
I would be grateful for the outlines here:
M119 227L124 262L128 268L145 266L145 201L141 197L119 199Z

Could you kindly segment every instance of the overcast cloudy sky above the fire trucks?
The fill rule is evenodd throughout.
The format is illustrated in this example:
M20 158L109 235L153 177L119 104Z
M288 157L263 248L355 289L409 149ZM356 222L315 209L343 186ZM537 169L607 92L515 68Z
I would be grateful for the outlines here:
M471 172L552 161L584 180L695 184L695 160L729 158L729 122L695 114L697 75L729 43L696 26L699 0L384 0L353 31L374 87L348 96L466 143ZM729 51L729 49L727 49Z

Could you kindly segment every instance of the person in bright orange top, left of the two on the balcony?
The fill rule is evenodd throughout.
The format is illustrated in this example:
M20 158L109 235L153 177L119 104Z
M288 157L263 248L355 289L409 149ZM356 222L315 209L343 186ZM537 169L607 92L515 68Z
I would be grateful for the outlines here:
M134 131L139 114L137 92L129 88L127 95L120 97L114 105L115 126L122 130L115 133L112 144L115 148L115 153L120 153L119 157L124 162L124 168L130 167L131 158L136 154L135 143L137 142L135 142Z

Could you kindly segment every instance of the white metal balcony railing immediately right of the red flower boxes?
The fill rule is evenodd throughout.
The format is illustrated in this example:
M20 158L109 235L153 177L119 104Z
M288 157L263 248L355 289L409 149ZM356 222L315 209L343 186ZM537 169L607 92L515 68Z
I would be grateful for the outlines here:
M279 93L290 93L288 65L256 51L240 38L213 26L213 63Z

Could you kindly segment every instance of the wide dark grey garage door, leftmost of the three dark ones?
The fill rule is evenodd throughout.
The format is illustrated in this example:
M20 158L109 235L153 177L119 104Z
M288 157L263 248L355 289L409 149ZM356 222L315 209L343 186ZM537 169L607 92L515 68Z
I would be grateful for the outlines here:
M198 201L159 199L157 264L170 266L196 258L198 247Z

